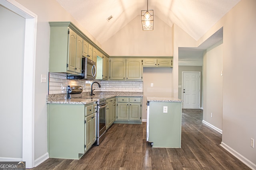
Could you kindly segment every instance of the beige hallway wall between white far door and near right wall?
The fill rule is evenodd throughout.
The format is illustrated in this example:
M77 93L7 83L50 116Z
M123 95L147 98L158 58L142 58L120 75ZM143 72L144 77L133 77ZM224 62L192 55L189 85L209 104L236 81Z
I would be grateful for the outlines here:
M216 43L204 52L203 120L220 130L222 130L222 60L222 41Z

